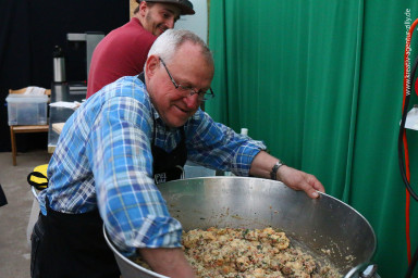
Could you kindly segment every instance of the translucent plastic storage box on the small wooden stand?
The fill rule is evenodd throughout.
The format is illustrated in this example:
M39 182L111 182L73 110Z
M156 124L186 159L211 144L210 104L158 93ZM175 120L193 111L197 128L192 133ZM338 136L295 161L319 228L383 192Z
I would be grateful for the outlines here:
M5 101L10 126L47 124L48 96L9 93Z

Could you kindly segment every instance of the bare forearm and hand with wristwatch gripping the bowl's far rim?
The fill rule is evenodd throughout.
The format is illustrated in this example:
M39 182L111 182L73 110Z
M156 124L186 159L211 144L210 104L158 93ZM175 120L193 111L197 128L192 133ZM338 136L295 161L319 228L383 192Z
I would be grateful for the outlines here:
M270 178L271 169L279 160L271 156L265 151L260 151L251 163L249 174L251 176ZM280 166L276 174L276 179L283 181L286 186L294 190L304 190L310 198L318 198L317 192L325 192L322 184L310 174L288 167Z

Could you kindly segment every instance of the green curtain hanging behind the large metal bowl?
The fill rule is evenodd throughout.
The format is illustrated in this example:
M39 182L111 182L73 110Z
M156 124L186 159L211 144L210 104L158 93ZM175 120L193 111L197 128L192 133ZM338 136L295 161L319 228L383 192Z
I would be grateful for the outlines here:
M384 278L407 269L397 134L406 25L417 17L416 0L210 1L217 97L206 111L236 131L248 128L361 213L377 235L373 261ZM415 185L417 132L407 131ZM417 219L411 200L413 252Z

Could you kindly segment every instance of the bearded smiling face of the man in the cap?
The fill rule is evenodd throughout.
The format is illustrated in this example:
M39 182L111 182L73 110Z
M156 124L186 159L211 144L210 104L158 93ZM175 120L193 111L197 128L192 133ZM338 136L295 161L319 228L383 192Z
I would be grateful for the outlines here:
M147 3L139 4L138 18L143 27L155 36L160 36L167 29L174 28L180 18L180 9L174 4Z

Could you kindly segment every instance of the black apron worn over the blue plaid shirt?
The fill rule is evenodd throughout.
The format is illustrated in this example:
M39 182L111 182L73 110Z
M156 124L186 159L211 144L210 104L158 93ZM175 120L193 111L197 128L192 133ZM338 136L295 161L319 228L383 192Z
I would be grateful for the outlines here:
M179 179L187 160L184 129L181 142L170 153L155 146L156 129L155 123L151 152L156 184ZM32 278L120 278L97 208L83 214L59 213L49 207L48 198L46 206L47 216L40 213L32 233Z

